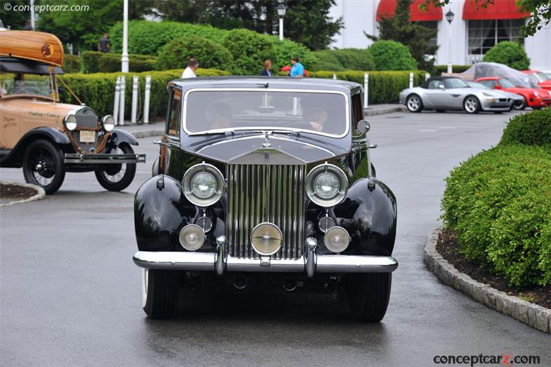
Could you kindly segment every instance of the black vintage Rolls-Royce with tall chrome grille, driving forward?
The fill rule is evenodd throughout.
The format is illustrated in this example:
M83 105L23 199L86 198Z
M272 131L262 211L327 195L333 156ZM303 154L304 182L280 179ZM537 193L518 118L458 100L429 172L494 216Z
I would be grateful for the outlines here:
M369 159L362 86L214 77L169 93L134 204L145 313L171 317L180 288L218 279L342 292L353 317L380 321L397 210Z

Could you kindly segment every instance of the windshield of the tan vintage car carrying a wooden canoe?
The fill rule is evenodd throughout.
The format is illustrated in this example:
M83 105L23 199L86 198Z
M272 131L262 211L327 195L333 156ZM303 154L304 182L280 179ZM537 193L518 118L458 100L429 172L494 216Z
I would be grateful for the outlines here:
M52 98L50 75L1 73L0 87L3 96L39 95Z

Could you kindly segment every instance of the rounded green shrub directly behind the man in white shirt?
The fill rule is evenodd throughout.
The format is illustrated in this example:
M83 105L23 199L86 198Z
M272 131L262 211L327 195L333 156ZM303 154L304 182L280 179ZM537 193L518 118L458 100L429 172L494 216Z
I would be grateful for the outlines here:
M156 70L170 70L187 67L187 61L195 57L204 68L225 70L231 68L233 57L218 43L202 37L180 37L173 39L163 49L155 64Z

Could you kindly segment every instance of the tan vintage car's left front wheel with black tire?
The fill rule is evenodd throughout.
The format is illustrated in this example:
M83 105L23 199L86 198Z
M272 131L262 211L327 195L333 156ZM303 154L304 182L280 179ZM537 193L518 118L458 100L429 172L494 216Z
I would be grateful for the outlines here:
M23 176L28 184L40 186L50 195L65 179L63 151L45 139L35 140L23 153Z

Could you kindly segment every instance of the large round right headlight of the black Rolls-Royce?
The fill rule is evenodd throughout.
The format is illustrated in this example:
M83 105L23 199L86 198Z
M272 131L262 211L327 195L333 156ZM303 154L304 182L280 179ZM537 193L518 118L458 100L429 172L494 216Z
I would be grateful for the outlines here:
M313 168L306 177L306 194L323 207L339 204L348 188L349 180L337 166L329 163Z

